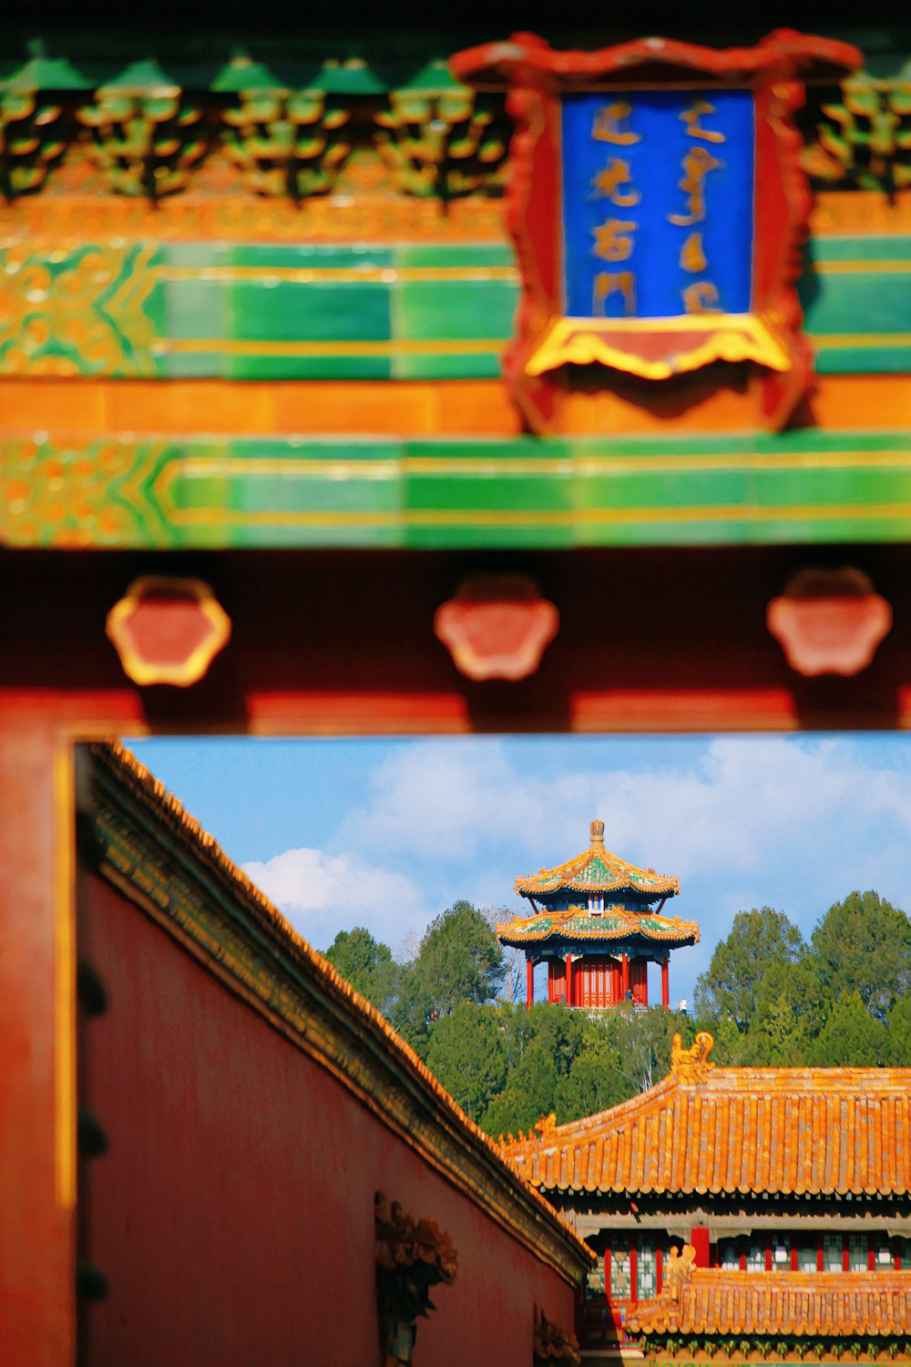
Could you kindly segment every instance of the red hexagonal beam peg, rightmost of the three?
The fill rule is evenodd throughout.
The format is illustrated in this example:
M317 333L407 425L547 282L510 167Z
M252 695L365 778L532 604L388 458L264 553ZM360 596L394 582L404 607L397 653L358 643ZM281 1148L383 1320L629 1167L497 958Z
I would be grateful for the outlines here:
M766 625L798 674L852 675L892 629L892 607L860 570L800 570L769 603Z

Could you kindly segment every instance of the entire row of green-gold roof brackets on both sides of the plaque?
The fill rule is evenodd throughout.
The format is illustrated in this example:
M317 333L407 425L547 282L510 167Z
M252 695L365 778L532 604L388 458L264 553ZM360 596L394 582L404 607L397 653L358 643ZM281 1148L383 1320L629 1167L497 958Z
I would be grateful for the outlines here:
M86 41L52 45L53 56L41 40L27 55L0 53L7 198L72 194L86 182L152 201L195 191L291 204L380 186L436 201L504 187L503 90L475 92L414 42L374 44L365 60L346 45L295 51L258 38L255 55L238 48L202 62L130 42L120 59ZM911 185L907 77L860 71L811 90L798 123L814 185L885 194Z

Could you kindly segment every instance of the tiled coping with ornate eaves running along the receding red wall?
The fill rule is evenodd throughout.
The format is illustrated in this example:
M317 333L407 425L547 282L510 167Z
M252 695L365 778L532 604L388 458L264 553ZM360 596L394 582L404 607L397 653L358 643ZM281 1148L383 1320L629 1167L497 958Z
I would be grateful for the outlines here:
M594 1255L417 1054L119 745L79 752L83 858L325 1068L537 1258L578 1284Z

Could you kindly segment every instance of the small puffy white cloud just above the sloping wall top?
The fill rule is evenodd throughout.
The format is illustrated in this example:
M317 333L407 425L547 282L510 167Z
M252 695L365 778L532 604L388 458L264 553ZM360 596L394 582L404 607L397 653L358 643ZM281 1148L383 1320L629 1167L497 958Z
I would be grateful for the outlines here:
M408 931L422 932L433 915L410 878L356 854L284 850L265 863L253 860L243 871L317 949L355 925L395 947Z

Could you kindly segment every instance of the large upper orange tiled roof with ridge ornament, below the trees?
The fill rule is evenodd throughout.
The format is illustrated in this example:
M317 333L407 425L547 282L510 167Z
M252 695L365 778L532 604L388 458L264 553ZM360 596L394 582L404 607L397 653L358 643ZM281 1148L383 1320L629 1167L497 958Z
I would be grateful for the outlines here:
M632 1100L503 1147L545 1192L907 1193L911 1068L714 1068L675 1036Z

